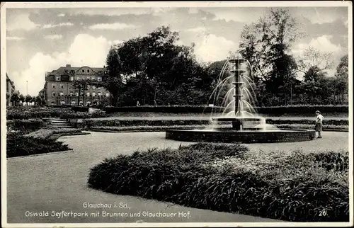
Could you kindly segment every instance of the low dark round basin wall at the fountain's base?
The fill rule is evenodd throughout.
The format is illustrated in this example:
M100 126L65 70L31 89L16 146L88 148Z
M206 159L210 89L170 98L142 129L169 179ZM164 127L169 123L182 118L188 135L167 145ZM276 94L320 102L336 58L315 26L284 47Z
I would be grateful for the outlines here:
M166 139L184 142L300 142L314 139L314 130L167 130Z

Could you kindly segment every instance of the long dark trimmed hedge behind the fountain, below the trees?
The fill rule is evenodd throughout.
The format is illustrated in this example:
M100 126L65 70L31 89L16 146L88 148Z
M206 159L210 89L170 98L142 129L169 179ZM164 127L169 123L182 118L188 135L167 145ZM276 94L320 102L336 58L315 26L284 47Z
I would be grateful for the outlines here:
M132 106L132 107L106 107L107 113L122 112L152 112L152 113L222 113L223 107L209 106ZM348 113L348 106L277 106L255 107L261 114L285 114L285 113L312 113L320 110L321 113Z

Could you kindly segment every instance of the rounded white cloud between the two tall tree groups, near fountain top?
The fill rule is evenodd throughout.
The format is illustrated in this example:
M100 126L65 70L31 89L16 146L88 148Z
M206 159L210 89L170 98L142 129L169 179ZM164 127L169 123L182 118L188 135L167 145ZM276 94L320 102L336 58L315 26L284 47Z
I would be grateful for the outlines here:
M226 59L227 54L235 49L236 45L232 40L209 34L204 36L202 42L196 44L195 54L204 62L214 62Z

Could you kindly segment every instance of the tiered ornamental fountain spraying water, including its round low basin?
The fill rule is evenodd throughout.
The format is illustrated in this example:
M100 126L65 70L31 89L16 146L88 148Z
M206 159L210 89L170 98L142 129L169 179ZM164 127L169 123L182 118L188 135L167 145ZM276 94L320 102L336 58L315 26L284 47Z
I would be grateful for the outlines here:
M316 134L314 130L279 130L273 125L267 125L265 118L257 115L251 105L256 98L252 84L251 65L246 59L238 57L227 60L210 97L214 97L213 103L216 103L220 93L227 89L226 95L222 97L224 107L222 115L212 116L211 127L203 130L167 130L166 139L246 143L296 142L314 139ZM230 123L231 125L225 127Z

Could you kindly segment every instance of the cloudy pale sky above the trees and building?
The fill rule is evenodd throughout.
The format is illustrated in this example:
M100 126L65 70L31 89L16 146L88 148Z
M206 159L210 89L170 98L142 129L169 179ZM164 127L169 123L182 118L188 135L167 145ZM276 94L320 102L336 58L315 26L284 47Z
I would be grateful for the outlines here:
M273 7L275 8L275 7ZM348 53L347 7L282 7L304 34L292 44L297 56L309 46L333 52L336 65ZM37 96L45 72L65 64L103 67L111 45L144 36L162 25L195 43L203 62L226 59L239 46L244 25L269 7L7 8L6 72L16 89ZM329 70L333 75L335 69Z

